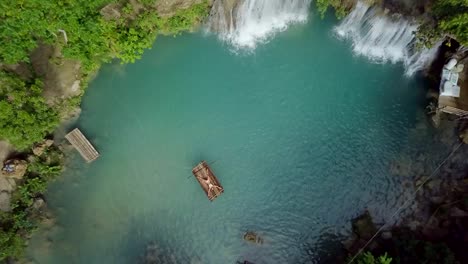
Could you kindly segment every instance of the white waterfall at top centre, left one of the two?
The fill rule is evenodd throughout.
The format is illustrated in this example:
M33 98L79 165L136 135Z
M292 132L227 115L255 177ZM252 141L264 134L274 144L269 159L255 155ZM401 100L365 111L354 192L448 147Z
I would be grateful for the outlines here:
M307 20L311 0L216 0L208 22L235 48L254 49L292 23Z

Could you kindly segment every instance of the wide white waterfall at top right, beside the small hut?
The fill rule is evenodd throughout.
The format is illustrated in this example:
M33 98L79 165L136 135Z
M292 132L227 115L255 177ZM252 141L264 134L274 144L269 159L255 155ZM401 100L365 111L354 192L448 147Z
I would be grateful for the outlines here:
M405 74L413 75L427 67L438 47L418 50L414 32L418 26L400 16L387 16L379 8L360 1L335 28L340 38L349 39L353 50L377 63L402 62Z

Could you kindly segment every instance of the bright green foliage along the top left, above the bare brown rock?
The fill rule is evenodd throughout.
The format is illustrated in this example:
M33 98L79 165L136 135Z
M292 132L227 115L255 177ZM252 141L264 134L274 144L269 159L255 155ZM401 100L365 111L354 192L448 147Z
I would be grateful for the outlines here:
M100 9L114 0L6 0L0 3L0 60L9 64L28 61L38 40L62 43L66 58L78 59L85 71L96 70L117 56L133 62L150 48L156 33L175 33L190 29L208 14L207 1L179 10L173 17L160 18L151 5L140 1L140 11L128 2L121 18L105 21ZM18 10L20 12L18 12ZM68 42L59 30L67 32Z

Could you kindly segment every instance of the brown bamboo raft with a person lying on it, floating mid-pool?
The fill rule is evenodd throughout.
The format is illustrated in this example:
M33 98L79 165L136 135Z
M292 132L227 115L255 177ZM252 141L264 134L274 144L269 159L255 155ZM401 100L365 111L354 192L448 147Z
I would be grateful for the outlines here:
M213 201L224 192L223 186L221 186L205 161L198 163L198 165L192 169L192 173L195 178L197 178L198 183L200 183L200 186L203 191L205 191L205 194L210 201Z

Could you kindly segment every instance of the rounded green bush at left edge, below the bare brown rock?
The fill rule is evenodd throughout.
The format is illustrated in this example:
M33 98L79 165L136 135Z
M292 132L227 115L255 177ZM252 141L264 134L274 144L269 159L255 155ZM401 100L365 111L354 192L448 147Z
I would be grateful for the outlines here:
M27 83L0 71L0 138L25 149L58 124L57 112L41 95L42 82Z

